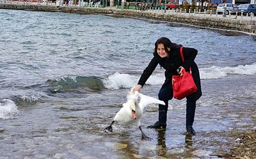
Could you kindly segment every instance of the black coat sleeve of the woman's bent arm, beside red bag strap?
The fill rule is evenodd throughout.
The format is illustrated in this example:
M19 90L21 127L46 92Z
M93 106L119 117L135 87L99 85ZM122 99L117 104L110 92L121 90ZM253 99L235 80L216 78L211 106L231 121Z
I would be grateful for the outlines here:
M186 70L189 70L189 67L193 65L198 50L193 48L183 48L183 56L185 62L181 65Z

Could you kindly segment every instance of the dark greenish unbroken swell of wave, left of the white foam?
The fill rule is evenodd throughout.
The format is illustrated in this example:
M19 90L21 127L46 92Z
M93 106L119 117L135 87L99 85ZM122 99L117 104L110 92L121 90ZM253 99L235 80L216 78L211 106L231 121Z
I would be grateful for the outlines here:
M94 76L64 76L54 80L47 80L51 93L77 92L79 90L99 91L105 87L99 77Z

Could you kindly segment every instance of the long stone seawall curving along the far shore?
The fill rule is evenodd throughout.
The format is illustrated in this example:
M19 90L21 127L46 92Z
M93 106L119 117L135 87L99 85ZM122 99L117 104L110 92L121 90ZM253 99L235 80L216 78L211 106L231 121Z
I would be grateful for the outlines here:
M129 9L109 8L83 8L50 5L29 4L0 4L0 9L20 9L27 11L67 12L80 14L103 14L115 16L130 16L133 18L153 19L169 22L172 25L190 25L202 28L224 29L226 31L238 31L256 35L256 21L251 19L218 18L214 16L189 15L188 13L162 13L149 11L136 11Z

